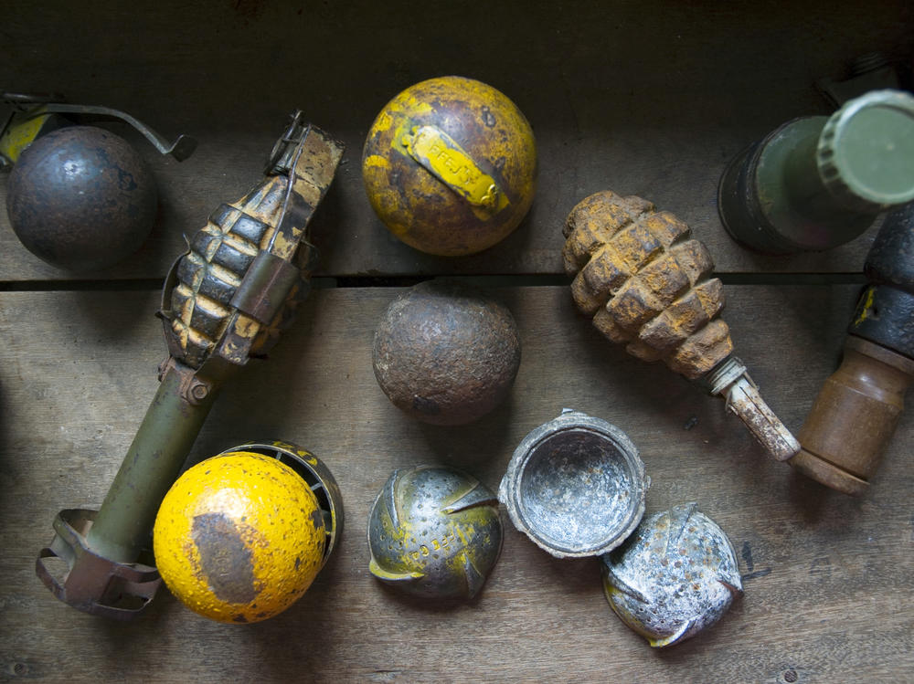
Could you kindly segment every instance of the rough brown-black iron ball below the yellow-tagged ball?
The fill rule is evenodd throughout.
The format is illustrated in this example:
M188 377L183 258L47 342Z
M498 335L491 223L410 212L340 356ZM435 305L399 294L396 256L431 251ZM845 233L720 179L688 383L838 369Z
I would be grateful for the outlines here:
M428 280L390 304L372 360L377 383L400 410L433 425L462 425L507 396L520 336L511 312L482 290Z

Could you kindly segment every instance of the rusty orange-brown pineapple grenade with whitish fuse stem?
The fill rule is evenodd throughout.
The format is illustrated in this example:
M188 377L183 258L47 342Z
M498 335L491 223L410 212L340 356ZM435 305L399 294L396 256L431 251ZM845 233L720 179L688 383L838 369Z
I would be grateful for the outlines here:
M563 234L572 296L600 332L643 361L707 381L775 458L799 450L732 355L728 325L717 318L723 284L689 226L641 197L604 191L571 210Z

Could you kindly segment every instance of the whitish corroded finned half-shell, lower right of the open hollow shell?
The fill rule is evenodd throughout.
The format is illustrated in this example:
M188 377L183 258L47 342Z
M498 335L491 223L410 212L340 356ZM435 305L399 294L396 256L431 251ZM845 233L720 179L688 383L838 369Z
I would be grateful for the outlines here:
M694 637L742 594L733 546L695 503L645 518L600 560L612 610L654 647Z

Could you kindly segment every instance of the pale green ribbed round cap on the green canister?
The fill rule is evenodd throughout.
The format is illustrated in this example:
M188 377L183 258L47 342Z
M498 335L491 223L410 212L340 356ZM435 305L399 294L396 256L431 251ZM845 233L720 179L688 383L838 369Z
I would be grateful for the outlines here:
M872 90L825 122L816 147L822 183L836 202L877 214L914 201L914 97Z

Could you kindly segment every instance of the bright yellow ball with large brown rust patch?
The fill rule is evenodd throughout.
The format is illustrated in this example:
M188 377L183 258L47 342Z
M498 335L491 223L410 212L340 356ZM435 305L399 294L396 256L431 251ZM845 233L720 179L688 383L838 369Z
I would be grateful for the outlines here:
M219 622L250 623L304 594L325 539L307 483L275 458L237 451L177 479L155 519L153 550L181 603Z

